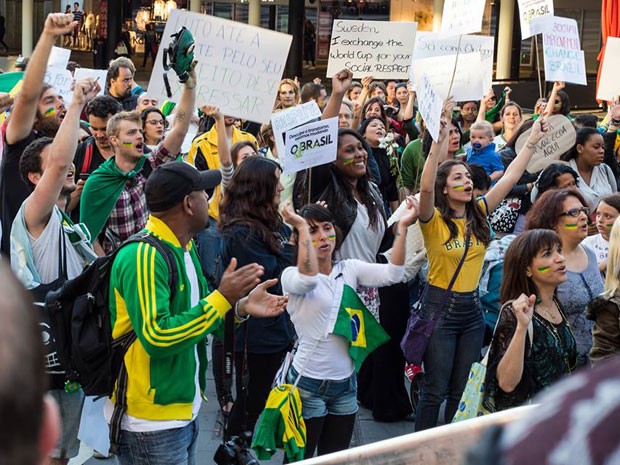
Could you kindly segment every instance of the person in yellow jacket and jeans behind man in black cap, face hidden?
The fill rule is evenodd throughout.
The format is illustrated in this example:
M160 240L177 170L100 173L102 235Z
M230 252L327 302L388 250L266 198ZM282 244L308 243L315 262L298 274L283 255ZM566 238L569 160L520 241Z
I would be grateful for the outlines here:
M203 110L204 111L204 110ZM256 138L245 131L241 131L235 125L235 118L224 116L224 127L228 146L232 147L237 142L249 140L258 146ZM196 137L192 142L187 155L187 162L193 164L200 171L220 169L220 158L217 150L217 131L215 125L204 134ZM222 187L217 186L213 191L209 202L209 225L198 234L198 253L205 272L210 276L215 276L216 258L220 251L221 236L217 230L217 220L219 218L219 204L222 196Z

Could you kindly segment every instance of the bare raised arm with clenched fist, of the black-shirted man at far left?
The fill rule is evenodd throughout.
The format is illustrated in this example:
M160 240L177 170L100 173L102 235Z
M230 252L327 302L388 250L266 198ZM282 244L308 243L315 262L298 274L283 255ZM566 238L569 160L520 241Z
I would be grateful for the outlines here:
M34 125L41 88L45 79L47 60L56 37L73 30L77 23L72 14L51 13L47 15L43 32L28 62L22 88L6 128L6 141L15 144L25 139Z

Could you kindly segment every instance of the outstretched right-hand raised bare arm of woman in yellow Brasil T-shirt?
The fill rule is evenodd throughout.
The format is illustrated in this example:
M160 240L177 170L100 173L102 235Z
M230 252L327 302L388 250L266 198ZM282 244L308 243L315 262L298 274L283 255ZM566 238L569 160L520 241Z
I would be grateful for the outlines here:
M508 165L504 175L501 177L497 184L491 188L487 193L487 207L488 211L492 212L500 204L504 197L508 195L510 189L519 181L525 168L532 159L534 148L536 144L545 136L547 132L547 123L545 117L542 116L536 120L532 126L532 132L527 138L527 143L523 146L521 151L517 154L515 159Z

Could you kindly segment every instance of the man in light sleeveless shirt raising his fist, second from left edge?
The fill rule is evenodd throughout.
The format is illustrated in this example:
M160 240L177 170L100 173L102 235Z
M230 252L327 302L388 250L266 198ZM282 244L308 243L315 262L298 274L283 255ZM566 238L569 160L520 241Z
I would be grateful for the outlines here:
M19 280L36 288L72 279L96 258L88 237L64 213L69 194L75 189L73 154L77 147L80 113L99 92L92 79L75 84L73 99L56 137L30 143L20 159L20 172L31 194L17 212L11 229L11 266ZM46 357L49 371L59 368L54 357ZM53 465L66 465L79 452L77 433L84 395L63 385L64 376L53 375L49 391L60 405L63 433L52 451Z

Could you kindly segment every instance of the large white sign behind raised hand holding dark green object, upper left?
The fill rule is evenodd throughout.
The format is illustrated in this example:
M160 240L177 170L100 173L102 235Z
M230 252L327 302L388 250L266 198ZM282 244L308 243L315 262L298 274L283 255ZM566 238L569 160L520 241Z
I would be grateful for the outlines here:
M214 16L172 10L157 52L149 81L149 93L164 96L162 55L172 34L187 27L196 41L196 101L217 105L225 115L266 123L278 92L278 84L292 37ZM181 84L168 73L172 97L178 102Z

